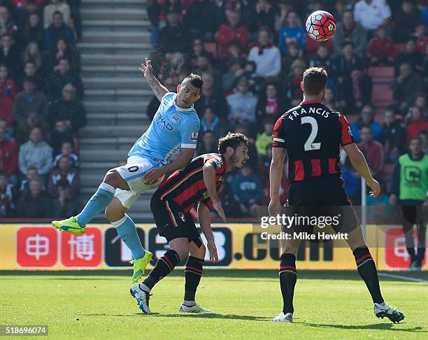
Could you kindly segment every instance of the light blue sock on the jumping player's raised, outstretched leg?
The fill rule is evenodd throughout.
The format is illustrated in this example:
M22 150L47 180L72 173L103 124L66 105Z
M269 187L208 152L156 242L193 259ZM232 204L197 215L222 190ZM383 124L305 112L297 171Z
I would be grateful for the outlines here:
M113 201L115 191L115 188L110 184L103 182L99 185L97 192L87 202L83 211L77 215L80 227L85 227L95 216L104 211L106 206Z

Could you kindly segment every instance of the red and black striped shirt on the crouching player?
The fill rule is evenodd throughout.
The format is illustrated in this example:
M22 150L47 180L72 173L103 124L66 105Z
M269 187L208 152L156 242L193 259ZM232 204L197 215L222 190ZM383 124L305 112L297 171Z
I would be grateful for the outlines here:
M189 212L199 201L204 202L211 209L213 201L209 197L202 172L206 163L213 164L215 168L215 187L218 192L222 185L227 163L222 155L207 153L194 158L187 167L174 171L159 186L156 192L157 196L163 201L175 201L185 213Z

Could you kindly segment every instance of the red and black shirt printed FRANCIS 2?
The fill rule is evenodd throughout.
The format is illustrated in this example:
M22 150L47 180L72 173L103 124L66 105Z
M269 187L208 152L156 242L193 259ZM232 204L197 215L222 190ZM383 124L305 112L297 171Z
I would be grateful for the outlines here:
M354 143L348 120L318 101L302 102L273 128L273 147L286 148L288 180L340 176L340 146Z

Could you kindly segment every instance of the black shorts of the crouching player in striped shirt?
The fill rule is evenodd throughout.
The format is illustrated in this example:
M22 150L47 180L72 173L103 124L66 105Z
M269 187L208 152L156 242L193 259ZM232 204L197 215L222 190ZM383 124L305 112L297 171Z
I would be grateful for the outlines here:
M190 213L184 213L175 201L162 201L153 196L150 201L153 217L155 218L156 227L159 235L164 236L166 241L172 241L180 237L185 237L189 243L194 241L198 246L202 246L198 229L193 222Z

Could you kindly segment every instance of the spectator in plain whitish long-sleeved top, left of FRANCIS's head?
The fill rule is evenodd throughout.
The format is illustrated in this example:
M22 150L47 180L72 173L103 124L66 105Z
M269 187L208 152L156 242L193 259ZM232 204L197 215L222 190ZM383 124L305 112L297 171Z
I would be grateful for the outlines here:
M271 33L268 29L259 30L257 45L251 48L248 60L255 62L257 76L275 77L280 73L280 50L272 44Z

